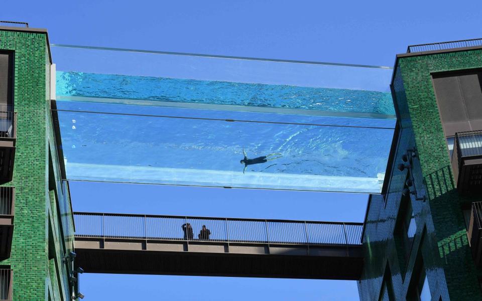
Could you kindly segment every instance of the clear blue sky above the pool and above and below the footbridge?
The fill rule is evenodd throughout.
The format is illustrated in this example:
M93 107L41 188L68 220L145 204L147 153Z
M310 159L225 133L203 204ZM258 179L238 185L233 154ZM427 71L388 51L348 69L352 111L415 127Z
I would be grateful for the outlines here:
M481 9L476 1L9 1L0 19L47 28L57 44L392 66L409 44L482 36ZM363 221L367 199L121 184L71 189L78 211L334 221ZM80 281L86 300L358 299L353 281L96 274Z

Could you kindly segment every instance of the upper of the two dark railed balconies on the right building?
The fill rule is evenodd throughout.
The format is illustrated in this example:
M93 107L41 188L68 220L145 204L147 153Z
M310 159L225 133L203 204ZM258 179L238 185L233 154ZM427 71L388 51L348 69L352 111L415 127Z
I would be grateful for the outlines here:
M455 134L452 170L459 192L482 190L482 130Z

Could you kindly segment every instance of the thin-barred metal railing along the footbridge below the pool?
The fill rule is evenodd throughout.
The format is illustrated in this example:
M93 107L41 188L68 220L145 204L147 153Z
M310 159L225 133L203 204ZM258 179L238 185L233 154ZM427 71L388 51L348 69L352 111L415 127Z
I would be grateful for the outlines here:
M76 237L280 244L360 245L363 230L363 223L88 212L74 212L74 221Z

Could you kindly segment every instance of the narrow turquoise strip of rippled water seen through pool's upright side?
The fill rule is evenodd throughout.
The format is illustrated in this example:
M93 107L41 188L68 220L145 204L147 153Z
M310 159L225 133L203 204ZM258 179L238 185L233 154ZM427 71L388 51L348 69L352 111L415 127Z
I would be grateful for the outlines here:
M57 94L395 114L390 93L164 77L57 72Z

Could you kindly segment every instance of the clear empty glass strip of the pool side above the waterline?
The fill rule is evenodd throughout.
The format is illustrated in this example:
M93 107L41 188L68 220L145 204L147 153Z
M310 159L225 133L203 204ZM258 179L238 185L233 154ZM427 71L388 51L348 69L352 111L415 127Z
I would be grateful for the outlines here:
M392 68L322 62L51 47L57 70L390 92Z

